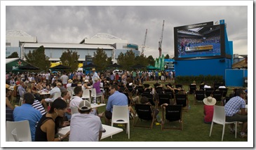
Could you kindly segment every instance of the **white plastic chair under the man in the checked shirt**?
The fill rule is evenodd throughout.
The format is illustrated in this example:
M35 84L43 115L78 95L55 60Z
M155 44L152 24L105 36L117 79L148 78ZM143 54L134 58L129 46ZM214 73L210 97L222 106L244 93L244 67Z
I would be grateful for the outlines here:
M212 121L212 125L210 126L210 135L211 135L212 130L213 130L213 123L217 123L217 124L223 125L222 141L223 141L223 137L224 137L225 124L234 123L235 124L235 137L236 137L237 121L226 122L226 114L225 114L224 107L214 105L213 121ZM209 137L210 137L210 135L209 135Z

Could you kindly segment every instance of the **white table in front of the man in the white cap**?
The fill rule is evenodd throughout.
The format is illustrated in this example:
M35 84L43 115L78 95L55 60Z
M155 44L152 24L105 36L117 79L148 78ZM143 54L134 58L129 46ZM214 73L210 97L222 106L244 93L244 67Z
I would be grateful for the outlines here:
M110 137L112 135L116 135L119 132L122 132L122 128L116 128L109 125L102 125L102 128L106 130L106 132L102 132L101 139L105 139L106 137ZM65 135L67 132L69 132L70 126L61 128L61 130L58 132L58 135Z

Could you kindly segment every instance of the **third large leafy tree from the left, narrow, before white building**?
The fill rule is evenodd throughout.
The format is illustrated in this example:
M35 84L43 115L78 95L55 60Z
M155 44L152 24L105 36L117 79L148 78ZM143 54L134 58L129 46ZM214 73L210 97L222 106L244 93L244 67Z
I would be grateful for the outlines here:
M97 66L97 70L102 71L105 70L108 64L108 57L107 54L103 49L97 48L96 53L93 53L93 64Z

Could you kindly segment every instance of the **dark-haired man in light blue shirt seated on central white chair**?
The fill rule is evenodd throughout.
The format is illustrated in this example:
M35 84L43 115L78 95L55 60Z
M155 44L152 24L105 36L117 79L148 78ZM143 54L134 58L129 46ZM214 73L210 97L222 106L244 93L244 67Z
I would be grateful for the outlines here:
M125 106L128 105L128 98L123 93L119 93L119 88L117 85L113 84L109 87L109 100L107 101L107 107L105 111L105 123L110 124L110 119L112 119L113 106Z

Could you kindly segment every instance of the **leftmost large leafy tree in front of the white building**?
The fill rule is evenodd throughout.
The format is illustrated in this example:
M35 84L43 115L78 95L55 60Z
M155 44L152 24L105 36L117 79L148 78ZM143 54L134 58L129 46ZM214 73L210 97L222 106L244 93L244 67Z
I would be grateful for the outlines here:
M25 54L26 61L30 64L39 67L43 71L48 71L50 68L49 57L44 53L44 47L40 46L36 50L29 50L29 53Z

